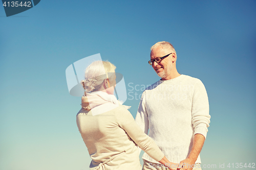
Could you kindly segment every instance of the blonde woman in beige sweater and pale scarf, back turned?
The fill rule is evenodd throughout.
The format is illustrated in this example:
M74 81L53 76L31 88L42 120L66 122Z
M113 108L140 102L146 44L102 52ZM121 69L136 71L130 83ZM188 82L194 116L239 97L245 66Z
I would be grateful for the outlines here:
M92 158L90 169L141 170L137 145L172 169L170 165L177 164L165 158L156 143L135 123L127 106L113 95L115 68L108 61L95 61L87 67L85 80L81 81L85 95L77 114L77 126Z

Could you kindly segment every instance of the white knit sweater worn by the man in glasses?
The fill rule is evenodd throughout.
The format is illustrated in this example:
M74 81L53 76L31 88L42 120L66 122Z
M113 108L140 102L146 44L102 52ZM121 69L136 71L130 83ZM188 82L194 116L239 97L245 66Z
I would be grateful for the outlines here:
M175 163L187 158L193 145L193 136L206 138L210 123L208 96L203 83L196 78L181 75L175 79L154 83L142 96L136 123ZM147 161L156 162L146 153ZM201 163L200 156L196 163Z

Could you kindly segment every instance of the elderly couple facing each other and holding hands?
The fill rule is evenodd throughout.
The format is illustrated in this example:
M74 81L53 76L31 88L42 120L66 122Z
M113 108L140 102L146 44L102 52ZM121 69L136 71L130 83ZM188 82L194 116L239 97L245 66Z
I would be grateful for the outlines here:
M116 67L108 61L87 67L77 126L92 158L91 170L201 169L199 154L210 123L208 96L199 79L179 74L176 60L169 42L151 47L148 63L161 79L143 91L135 120L113 95Z

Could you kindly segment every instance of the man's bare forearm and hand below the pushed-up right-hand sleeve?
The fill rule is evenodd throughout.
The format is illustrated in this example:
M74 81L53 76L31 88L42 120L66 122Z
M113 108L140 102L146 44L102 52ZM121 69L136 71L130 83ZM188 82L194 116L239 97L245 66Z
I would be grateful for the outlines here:
M180 167L178 168L181 170L191 170L194 167L194 164L198 158L198 155L200 154L203 144L204 144L205 138L202 134L195 134L193 139L193 147L188 155L188 157L182 161L180 161ZM191 165L193 167L191 167Z

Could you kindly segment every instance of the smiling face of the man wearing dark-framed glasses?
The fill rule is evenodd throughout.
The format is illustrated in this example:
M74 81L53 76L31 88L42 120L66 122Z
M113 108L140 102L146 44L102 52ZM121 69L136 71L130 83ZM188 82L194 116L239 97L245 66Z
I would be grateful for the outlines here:
M151 60L154 60L158 57L163 57L169 53L172 52L165 51L161 46L158 46L151 51L150 58ZM164 58L160 63L154 61L152 67L156 71L157 75L162 78L162 80L167 80L165 78L167 78L170 75L170 71L173 68L172 55L169 55L168 57Z

